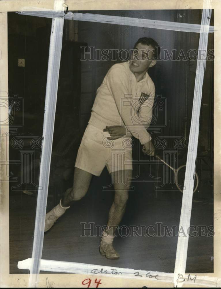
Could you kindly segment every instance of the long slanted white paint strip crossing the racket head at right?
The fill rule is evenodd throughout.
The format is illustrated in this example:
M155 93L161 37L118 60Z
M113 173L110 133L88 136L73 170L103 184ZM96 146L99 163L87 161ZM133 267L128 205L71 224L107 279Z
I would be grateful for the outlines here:
M197 147L199 137L199 117L201 109L203 78L206 65L206 55L204 55L204 59L201 60L200 51L204 49L205 51L207 51L209 23L212 12L210 8L211 8L211 0L204 0L203 14L201 19L202 25L199 39L199 50L197 57L192 118L191 118L188 153L186 160L186 172L184 180L184 188L186 189L183 190L179 232L181 228L183 228L184 232L188 231L192 212L192 195L194 190L194 177L195 177L195 167L197 160ZM188 239L189 239L188 234L187 236L183 236L183 234L178 236L175 269L174 269L174 287L182 287L183 285L183 283L177 283L177 278L185 275Z

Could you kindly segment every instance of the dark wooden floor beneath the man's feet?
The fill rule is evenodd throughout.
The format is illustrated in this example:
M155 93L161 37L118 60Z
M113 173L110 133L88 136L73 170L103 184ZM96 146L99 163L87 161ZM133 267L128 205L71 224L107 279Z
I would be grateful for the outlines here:
M113 191L102 191L101 186L108 184L106 171L101 177L93 177L86 197L74 203L54 227L45 233L42 259L173 272L177 237L118 236L114 240L114 247L120 254L118 260L109 260L99 253L100 237L80 237L80 223L85 222L86 226L88 222L106 225ZM136 189L130 192L120 225L149 226L160 222L169 229L177 226L177 232L182 193L164 191L156 195L153 183L134 185ZM203 189L211 190L211 187ZM31 257L36 200L36 197L22 192L10 192L10 274L28 273L28 270L18 269L17 265L18 261ZM47 211L53 206L53 198L48 198ZM213 225L213 201L199 198L199 193L193 198L191 225ZM212 273L212 257L213 238L190 237L186 272Z

